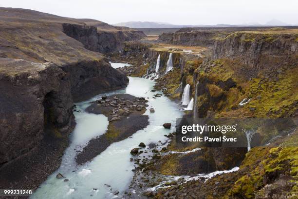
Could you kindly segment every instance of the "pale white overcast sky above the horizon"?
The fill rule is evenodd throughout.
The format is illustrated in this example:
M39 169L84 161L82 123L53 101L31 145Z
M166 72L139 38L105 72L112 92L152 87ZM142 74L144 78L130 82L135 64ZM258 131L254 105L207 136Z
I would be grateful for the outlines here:
M298 0L0 0L1 7L33 9L110 24L163 21L173 24L298 23Z

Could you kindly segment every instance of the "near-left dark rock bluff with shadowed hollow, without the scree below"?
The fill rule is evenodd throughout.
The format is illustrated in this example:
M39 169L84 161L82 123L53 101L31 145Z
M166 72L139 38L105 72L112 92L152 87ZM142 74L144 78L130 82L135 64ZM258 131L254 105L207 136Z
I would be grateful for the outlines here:
M55 64L0 59L0 164L74 127L71 85Z

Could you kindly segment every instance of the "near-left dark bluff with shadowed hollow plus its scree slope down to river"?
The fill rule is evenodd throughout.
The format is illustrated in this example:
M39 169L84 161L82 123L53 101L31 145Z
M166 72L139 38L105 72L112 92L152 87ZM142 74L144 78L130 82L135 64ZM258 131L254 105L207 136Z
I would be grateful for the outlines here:
M0 62L0 187L36 188L60 165L74 128L71 86L55 64Z

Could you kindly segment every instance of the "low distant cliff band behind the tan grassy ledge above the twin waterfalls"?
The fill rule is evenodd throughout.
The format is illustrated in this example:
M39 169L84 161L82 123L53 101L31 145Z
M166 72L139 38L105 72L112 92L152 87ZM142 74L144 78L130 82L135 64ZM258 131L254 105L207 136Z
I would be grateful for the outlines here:
M176 32L159 35L159 40L174 44L184 44L188 46L212 45L215 41L216 33L210 31L197 32Z

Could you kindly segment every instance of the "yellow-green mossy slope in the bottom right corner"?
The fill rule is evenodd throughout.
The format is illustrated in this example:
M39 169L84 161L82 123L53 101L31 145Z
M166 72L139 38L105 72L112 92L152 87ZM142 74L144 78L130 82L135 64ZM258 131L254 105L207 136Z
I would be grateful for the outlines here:
M282 175L291 175L298 180L298 147L255 147L246 154L241 170L246 175L241 176L228 192L229 196L245 196L254 198L254 192L263 187L263 179L274 181ZM293 187L293 191L295 191Z

